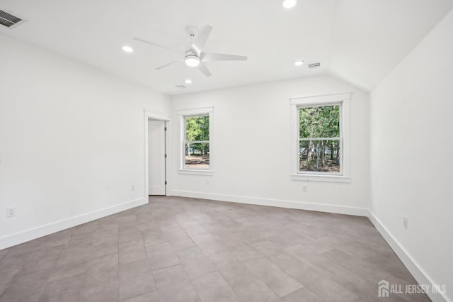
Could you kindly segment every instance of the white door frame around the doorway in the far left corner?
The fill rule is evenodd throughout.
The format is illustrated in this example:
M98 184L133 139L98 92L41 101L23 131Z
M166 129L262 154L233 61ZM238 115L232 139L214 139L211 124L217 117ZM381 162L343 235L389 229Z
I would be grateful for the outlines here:
M170 130L170 123L171 123L171 116L167 116L165 114L161 113L154 113L151 111L144 110L144 198L149 198L149 190L148 190L148 182L149 182L149 168L148 168L148 152L149 152L149 141L148 141L148 121L149 120L159 120L159 121L165 121L165 127L167 130L165 131L165 152L167 154L166 157L166 162L165 162L165 178L168 180L168 159L171 158L168 156L169 151L171 150L170 146L170 139L169 139L169 131ZM168 184L168 182L167 182ZM165 186L165 195L168 194L168 186Z

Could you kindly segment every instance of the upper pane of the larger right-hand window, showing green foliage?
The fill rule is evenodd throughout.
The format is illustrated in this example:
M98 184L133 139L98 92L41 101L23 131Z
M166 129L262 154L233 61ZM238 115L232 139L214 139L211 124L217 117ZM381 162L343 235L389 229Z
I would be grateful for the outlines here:
M339 138L340 106L299 109L300 138Z

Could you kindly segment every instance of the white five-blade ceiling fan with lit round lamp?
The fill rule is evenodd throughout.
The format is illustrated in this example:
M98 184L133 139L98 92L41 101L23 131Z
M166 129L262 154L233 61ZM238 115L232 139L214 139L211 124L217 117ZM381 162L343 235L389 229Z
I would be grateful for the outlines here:
M150 45L154 45L156 47L161 47L166 50L171 50L173 52L178 52L180 55L184 55L183 59L167 63L165 65L161 65L156 67L156 70L168 67L170 65L176 64L178 62L185 62L185 65L189 67L197 67L200 71L205 74L206 77L211 77L210 69L207 69L205 62L212 62L212 61L246 61L247 57L243 55L224 55L220 53L209 53L209 52L202 52L203 47L206 44L207 38L209 38L210 33L212 31L212 26L204 26L199 33L197 33L197 28L188 26L185 28L186 32L190 37L190 45L188 45L188 50L185 52L180 52L179 50L173 50L169 47L159 45L148 40L144 40L141 38L134 37L134 40L139 42L147 43Z

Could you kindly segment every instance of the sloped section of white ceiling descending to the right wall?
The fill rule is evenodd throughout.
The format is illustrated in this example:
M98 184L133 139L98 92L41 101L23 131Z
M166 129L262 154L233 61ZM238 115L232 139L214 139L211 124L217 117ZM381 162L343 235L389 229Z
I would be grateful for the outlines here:
M329 72L370 91L452 8L452 0L337 0Z

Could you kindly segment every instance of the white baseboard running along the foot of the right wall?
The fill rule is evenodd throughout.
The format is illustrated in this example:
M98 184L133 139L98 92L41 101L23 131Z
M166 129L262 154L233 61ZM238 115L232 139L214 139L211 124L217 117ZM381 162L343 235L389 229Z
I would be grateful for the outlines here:
M376 216L369 211L369 220L372 222L374 227L381 233L382 237L389 243L390 247L396 255L401 259L401 262L406 266L412 276L417 280L418 284L435 284L432 278L425 273L422 267L411 257L411 255L404 249L404 247L391 235L389 230L377 219ZM452 302L445 293L428 293L428 296L433 302Z

